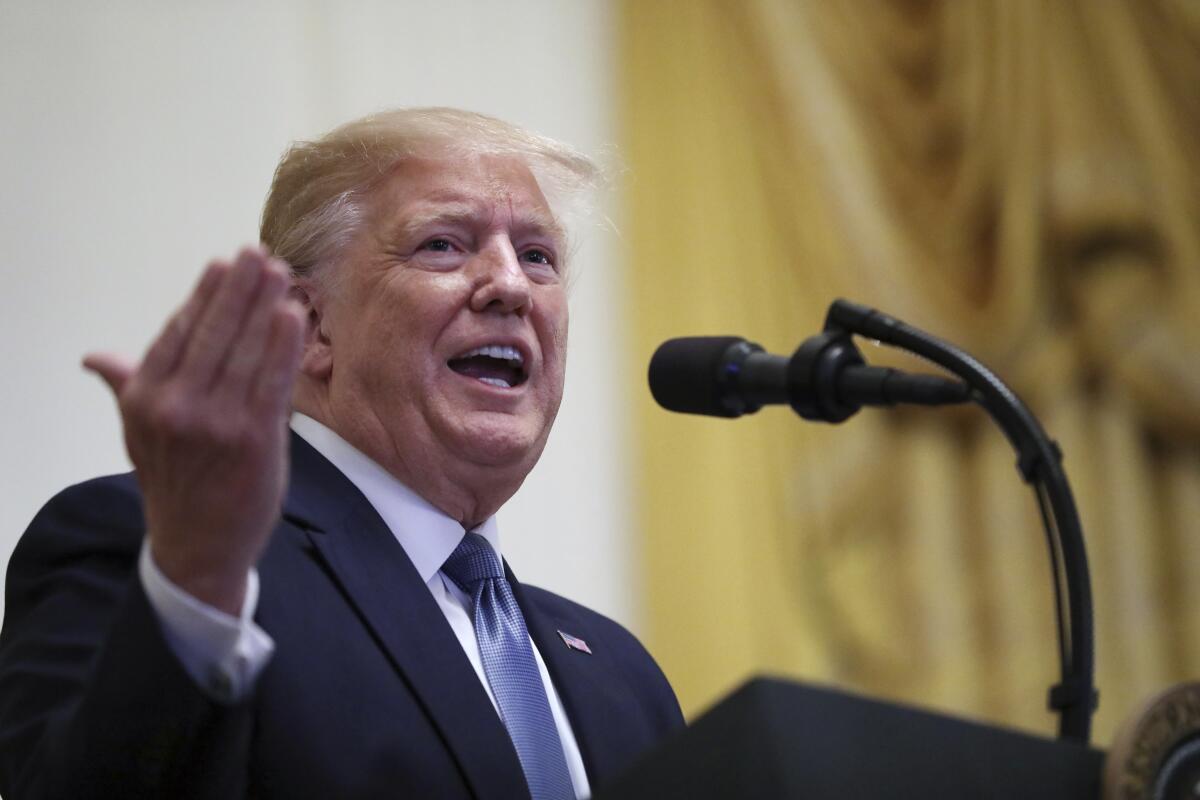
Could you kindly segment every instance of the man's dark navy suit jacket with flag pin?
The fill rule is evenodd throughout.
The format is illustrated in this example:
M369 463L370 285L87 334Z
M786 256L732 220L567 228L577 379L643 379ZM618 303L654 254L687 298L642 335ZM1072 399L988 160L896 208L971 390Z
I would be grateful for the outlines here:
M169 650L137 579L143 536L137 482L120 475L55 497L17 546L0 632L7 800L528 798L425 583L304 440L258 567L276 651L246 700L214 702ZM674 694L619 625L509 578L596 789L682 727Z

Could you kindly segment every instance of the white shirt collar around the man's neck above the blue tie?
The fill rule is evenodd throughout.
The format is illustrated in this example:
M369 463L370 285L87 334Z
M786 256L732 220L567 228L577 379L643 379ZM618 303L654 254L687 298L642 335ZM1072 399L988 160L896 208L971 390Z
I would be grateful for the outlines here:
M428 583L458 547L466 535L463 527L311 416L293 413L292 429L362 492L404 548L421 581ZM487 540L503 561L496 517L484 521L475 533Z

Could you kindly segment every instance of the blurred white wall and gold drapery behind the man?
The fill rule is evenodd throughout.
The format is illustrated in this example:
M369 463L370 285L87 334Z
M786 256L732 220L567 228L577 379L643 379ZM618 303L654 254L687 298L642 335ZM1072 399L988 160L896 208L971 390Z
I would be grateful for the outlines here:
M1045 542L982 411L649 399L664 338L790 353L835 296L965 347L1061 444L1094 739L1200 673L1190 0L0 1L0 557L55 491L127 468L83 353L139 353L256 237L288 142L419 104L618 164L563 413L500 528L522 579L640 633L690 716L768 672L1055 728Z

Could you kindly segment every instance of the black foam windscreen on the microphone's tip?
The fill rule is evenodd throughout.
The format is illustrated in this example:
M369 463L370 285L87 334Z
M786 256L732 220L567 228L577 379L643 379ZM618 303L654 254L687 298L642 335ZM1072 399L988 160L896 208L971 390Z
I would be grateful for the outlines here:
M670 411L738 416L722 402L720 373L726 354L745 339L689 336L667 339L650 359L650 393Z

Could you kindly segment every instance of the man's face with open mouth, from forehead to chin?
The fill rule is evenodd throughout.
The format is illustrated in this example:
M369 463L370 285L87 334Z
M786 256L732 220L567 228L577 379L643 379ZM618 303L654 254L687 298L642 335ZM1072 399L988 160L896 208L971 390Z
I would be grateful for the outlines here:
M563 395L563 247L521 161L401 166L326 291L334 427L401 480L456 464L523 477Z

